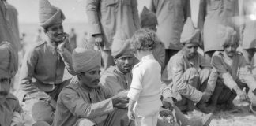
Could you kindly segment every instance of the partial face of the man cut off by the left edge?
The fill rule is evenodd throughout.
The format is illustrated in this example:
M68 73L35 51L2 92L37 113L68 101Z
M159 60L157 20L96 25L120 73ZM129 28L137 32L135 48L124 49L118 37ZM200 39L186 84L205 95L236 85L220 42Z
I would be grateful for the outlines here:
M9 78L0 76L0 102L9 94L10 80Z

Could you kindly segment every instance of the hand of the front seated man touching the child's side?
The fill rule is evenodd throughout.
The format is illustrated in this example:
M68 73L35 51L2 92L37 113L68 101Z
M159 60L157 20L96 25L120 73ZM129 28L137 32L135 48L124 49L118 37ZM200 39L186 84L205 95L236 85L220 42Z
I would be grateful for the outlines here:
M117 95L112 97L113 106L117 105L118 103L128 103L129 99L127 97L127 91L120 91Z

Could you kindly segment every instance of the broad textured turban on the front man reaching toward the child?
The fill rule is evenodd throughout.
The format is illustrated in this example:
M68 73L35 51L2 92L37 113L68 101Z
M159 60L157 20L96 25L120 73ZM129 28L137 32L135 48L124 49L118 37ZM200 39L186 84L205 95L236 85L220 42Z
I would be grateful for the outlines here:
M77 73L88 72L91 69L100 67L100 51L76 48L72 54L73 70Z

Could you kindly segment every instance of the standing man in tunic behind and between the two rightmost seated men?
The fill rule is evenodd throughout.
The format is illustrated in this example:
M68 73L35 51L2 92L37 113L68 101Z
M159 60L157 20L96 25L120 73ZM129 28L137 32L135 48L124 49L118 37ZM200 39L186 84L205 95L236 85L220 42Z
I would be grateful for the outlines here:
M238 0L201 0L198 24L203 31L203 43L205 57L211 61L211 57L216 50L223 50L220 46L223 39L218 38L216 31L219 25L228 25L235 28L235 17L239 16Z

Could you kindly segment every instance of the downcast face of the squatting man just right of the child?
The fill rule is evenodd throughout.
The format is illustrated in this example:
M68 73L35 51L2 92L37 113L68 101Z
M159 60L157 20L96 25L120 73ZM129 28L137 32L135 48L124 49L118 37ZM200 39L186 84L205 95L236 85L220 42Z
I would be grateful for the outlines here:
M198 53L198 43L186 43L183 47L183 51L186 55L186 58L194 58Z

